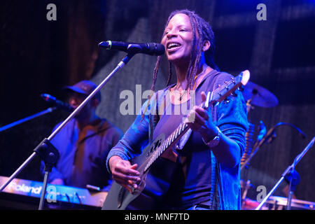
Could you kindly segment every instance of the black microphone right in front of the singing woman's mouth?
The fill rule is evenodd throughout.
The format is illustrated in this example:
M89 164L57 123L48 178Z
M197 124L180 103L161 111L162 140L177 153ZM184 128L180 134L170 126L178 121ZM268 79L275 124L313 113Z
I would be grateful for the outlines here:
M164 45L160 43L128 43L121 41L102 41L99 47L107 50L123 50L127 53L137 54L144 53L147 55L163 55L165 52Z

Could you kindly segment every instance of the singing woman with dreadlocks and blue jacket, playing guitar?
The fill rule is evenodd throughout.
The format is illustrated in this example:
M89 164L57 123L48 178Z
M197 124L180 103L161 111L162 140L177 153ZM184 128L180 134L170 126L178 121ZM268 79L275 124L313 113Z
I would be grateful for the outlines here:
M169 61L169 80L174 66L177 82L156 92L158 111L162 108L158 115L151 113L153 97L142 106L141 114L111 149L106 166L121 186L137 188L139 165L130 159L160 134L168 137L184 121L192 132L155 161L145 190L127 209L240 209L239 164L248 128L244 98L237 90L209 109L197 106L206 100L205 93L233 77L214 64L211 26L190 10L176 10L169 15L161 43ZM194 105L184 113L192 101Z

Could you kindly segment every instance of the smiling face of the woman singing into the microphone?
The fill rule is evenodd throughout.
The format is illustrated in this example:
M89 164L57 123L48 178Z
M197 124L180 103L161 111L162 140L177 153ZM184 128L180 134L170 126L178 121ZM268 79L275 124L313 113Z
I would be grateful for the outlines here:
M162 44L170 62L175 65L189 63L193 46L193 27L188 15L179 13L169 20Z

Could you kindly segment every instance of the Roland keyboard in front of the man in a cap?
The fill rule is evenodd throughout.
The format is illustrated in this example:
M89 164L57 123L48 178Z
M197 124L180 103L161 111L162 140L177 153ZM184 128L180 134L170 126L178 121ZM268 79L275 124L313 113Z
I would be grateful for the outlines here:
M0 186L6 183L8 177L0 176ZM36 204L41 198L43 183L24 179L13 179L0 193L0 207L10 202L23 202ZM72 186L59 186L48 184L45 194L45 206L66 209L101 209L108 192L75 188ZM5 204L3 204L5 203Z

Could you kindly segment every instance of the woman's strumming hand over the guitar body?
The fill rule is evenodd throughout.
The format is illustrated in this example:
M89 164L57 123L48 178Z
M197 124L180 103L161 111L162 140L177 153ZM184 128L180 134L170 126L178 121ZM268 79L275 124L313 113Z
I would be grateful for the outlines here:
M109 159L113 180L129 190L130 193L132 193L132 188L137 188L137 183L141 181L140 173L136 170L137 167L137 164L131 165L128 160L123 160L117 155Z

